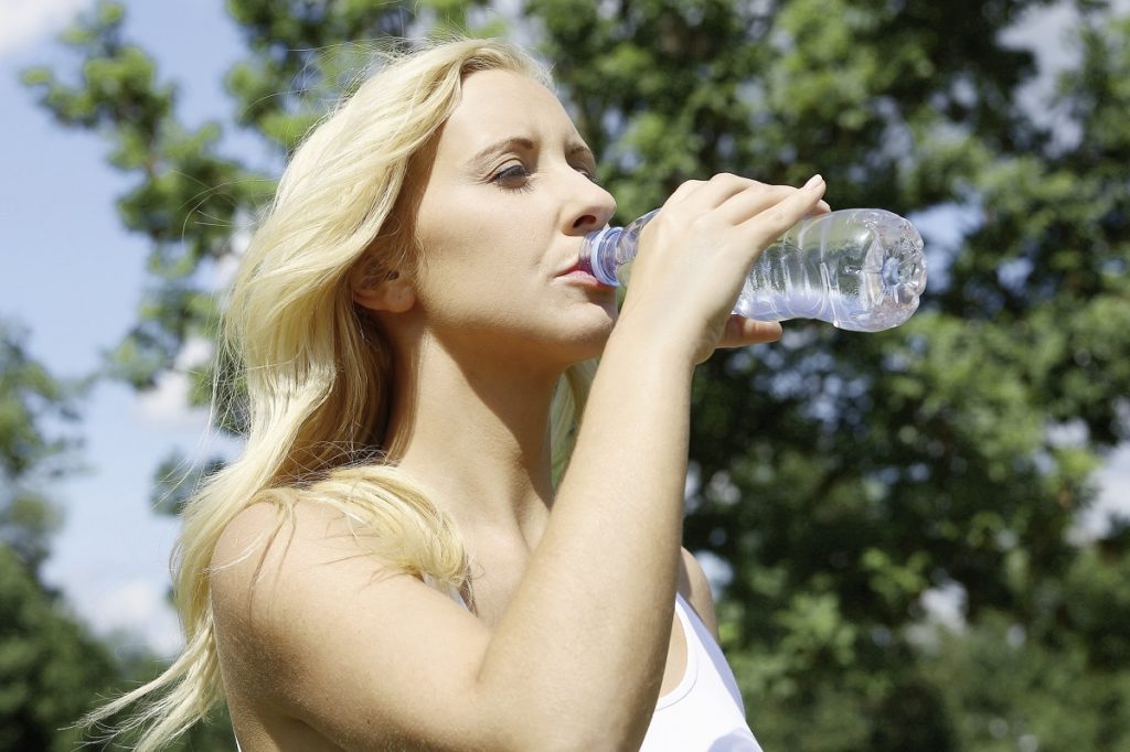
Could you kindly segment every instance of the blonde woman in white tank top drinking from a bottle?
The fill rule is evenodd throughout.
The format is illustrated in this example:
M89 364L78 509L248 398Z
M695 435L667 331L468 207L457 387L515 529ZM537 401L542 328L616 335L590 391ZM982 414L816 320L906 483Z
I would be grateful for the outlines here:
M690 378L780 335L728 312L824 184L681 185L617 315L548 86L434 45L295 154L232 292L251 431L185 513L188 645L106 709L157 698L138 749L220 701L244 752L759 749L680 548Z

